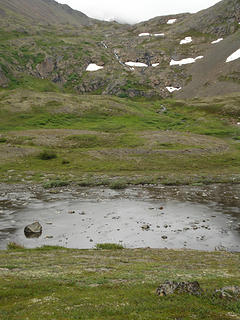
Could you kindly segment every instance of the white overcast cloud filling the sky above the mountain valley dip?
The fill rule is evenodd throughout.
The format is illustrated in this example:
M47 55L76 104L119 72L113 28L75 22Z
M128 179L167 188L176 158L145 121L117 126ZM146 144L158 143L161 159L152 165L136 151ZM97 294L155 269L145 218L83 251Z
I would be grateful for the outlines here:
M100 20L117 20L119 22L137 23L156 16L182 12L197 12L219 2L219 0L58 0L89 17Z

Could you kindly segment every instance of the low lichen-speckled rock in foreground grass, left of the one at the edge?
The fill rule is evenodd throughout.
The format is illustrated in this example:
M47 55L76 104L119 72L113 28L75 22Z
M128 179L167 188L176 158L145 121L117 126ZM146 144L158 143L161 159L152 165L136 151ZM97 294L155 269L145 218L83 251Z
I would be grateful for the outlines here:
M167 296L176 292L189 293L193 295L199 295L202 293L202 289L197 281L193 282L176 282L176 281L165 281L157 288L157 295Z

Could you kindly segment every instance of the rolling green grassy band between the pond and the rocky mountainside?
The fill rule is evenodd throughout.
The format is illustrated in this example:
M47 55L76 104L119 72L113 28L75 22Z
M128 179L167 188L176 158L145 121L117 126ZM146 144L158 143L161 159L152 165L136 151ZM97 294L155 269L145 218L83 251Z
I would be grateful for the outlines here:
M2 90L0 148L4 156L12 148L12 156L0 157L0 178L17 182L31 172L47 187L74 181L111 188L239 181L239 101L238 95L184 102Z

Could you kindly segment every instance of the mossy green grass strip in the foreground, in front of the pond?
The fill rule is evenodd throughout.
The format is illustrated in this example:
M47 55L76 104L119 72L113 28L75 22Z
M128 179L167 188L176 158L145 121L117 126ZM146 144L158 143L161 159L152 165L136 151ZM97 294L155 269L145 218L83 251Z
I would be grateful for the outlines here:
M230 320L237 299L214 290L240 285L238 253L192 250L0 251L0 318ZM201 296L158 297L165 280L199 281Z

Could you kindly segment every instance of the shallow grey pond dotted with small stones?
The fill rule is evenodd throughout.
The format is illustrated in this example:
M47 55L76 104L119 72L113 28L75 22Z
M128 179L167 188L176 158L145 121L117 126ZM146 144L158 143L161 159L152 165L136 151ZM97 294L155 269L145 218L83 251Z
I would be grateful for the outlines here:
M13 190L0 189L0 249L15 241L28 248L85 249L111 242L240 251L239 185ZM42 235L26 238L24 227L34 221L41 223Z

